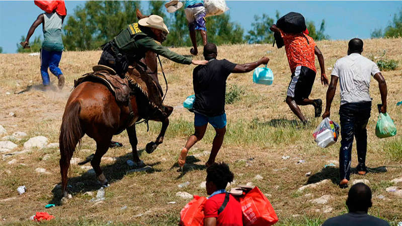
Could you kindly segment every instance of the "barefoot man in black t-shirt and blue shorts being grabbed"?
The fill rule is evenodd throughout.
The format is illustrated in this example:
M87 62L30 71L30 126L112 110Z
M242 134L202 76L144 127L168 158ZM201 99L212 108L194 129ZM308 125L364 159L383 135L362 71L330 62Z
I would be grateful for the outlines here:
M203 138L208 123L214 127L216 134L212 142L211 154L205 165L210 166L215 162L226 132L225 93L227 77L230 73L252 71L269 61L268 57L262 57L260 60L245 64L235 64L226 59L218 60L216 59L218 51L213 43L207 43L204 46L203 54L208 63L197 66L193 70L195 100L193 109L190 111L194 112L195 132L189 137L180 153L180 167L186 163L189 149Z

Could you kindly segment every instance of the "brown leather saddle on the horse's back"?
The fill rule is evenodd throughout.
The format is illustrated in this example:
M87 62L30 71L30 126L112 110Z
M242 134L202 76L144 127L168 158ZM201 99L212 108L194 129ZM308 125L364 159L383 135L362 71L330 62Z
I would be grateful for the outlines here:
M105 85L115 96L118 103L127 104L131 89L126 79L120 78L116 72L105 65L95 65L93 72L84 74L78 80L74 80L74 88L84 82L99 82Z

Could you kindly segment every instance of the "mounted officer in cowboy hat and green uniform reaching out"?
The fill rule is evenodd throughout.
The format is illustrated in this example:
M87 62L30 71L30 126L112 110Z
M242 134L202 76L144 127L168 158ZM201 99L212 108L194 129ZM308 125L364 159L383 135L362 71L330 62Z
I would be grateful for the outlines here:
M128 25L112 41L106 43L98 64L113 68L120 77L124 78L128 66L134 62L138 63L148 50L177 63L199 65L207 62L192 60L155 42L156 40L162 43L168 34L169 30L164 19L157 15L150 15L139 20L138 23Z

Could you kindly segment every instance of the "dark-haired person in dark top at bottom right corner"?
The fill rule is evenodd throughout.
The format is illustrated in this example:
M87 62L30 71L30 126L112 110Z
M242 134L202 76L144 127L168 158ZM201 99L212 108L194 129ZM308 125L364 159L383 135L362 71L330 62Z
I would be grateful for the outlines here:
M363 183L350 188L346 205L349 213L329 218L322 226L389 226L387 221L367 214L372 206L371 189Z

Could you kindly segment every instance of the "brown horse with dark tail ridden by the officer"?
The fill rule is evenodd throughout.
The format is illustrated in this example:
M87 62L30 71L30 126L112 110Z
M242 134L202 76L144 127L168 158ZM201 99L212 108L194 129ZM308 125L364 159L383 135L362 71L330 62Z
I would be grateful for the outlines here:
M143 17L138 10L137 17L138 19ZM141 61L147 66L146 73L157 80L156 54L148 51ZM138 73L135 69L129 70L129 72ZM167 107L168 115L156 114L149 105L147 97L139 92L135 96L130 96L129 101L135 121L147 118L162 122L162 129L156 140L149 142L145 148L147 153L152 153L157 145L163 142L169 125L168 117L173 108ZM75 146L78 142L81 144L81 138L85 134L96 141L96 152L91 160L91 165L102 185L107 186L108 180L100 167L101 158L109 149L113 135L119 134L124 129L127 130L132 146L134 163L144 166L138 158L135 124L129 125L129 113L128 106L116 102L114 95L101 83L83 82L71 92L65 106L59 137L61 187L64 196L68 194L66 190L67 172L71 157Z

